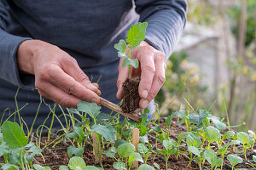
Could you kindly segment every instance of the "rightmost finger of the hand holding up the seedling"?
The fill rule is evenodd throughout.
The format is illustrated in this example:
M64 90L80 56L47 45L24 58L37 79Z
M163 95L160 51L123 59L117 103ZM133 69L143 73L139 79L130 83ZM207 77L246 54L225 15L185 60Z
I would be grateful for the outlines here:
M154 74L152 86L148 93L148 97L147 97L147 99L141 99L141 101L140 101L140 107L143 109L147 107L148 103L152 99L154 99L154 97L156 96L156 94L158 94L158 92L160 91L160 88L166 81L165 54L163 54L161 52L155 53L154 54L154 63L155 63L156 71Z

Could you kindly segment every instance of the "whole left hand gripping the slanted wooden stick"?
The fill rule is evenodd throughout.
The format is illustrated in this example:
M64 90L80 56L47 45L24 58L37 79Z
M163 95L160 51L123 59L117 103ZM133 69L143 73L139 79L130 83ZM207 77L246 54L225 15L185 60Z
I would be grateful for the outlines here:
M38 93L57 104L76 108L81 101L99 104L101 91L79 68L77 61L54 45L26 40L17 51L20 71L35 75Z

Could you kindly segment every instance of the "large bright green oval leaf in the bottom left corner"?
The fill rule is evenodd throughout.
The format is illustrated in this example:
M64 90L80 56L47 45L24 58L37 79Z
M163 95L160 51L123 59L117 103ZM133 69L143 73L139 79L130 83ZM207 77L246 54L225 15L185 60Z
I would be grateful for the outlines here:
M28 142L22 128L16 122L3 122L2 125L3 140L9 144L11 149L17 149L25 146Z

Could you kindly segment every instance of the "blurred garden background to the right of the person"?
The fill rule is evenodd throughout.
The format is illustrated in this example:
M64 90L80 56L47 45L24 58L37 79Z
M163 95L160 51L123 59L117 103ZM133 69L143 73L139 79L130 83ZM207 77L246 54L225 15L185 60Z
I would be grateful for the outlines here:
M228 115L237 130L256 130L256 0L188 3L187 25L155 99L162 115L204 107Z

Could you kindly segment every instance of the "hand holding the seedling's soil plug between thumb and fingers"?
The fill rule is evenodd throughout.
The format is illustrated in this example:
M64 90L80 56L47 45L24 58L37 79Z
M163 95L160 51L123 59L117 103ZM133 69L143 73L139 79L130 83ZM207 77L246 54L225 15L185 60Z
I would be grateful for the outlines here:
M128 50L126 49L126 55ZM142 99L139 105L142 109L145 109L166 81L166 55L153 48L148 42L143 41L136 49L131 50L131 56L139 61L137 69L131 67L130 75L131 77L141 77L138 93ZM121 58L119 61L118 99L123 98L122 83L128 77L128 66L122 67L123 60Z

